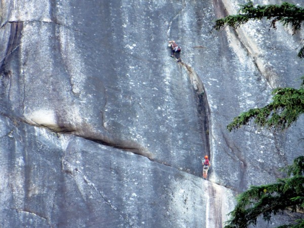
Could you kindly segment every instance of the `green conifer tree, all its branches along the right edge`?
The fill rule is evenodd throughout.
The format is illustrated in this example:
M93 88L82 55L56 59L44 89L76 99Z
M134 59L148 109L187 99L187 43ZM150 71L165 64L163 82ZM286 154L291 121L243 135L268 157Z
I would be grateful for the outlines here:
M233 28L249 20L267 18L271 27L276 29L276 22L291 25L293 34L301 28L304 21L304 8L289 3L281 5L253 6L252 1L241 5L237 15L230 15L216 20L214 28L219 30L225 25ZM299 58L304 58L304 46L298 52ZM257 127L284 130L304 113L304 77L299 89L277 88L273 91L273 101L262 107L241 113L227 126L229 131L249 124L251 120ZM284 171L286 178L278 179L276 183L251 186L237 198L237 205L230 213L230 220L225 228L248 227L256 225L257 218L262 215L270 221L271 216L284 210L303 213L304 210L304 156L298 157ZM294 219L289 224L279 226L300 228L304 227L304 215Z

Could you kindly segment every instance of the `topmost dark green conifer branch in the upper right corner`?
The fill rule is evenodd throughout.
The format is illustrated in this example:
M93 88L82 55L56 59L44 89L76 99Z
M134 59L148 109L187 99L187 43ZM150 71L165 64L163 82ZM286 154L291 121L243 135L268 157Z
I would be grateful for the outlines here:
M244 5L240 5L237 15L229 15L215 21L214 28L219 30L225 25L233 28L240 27L249 20L261 20L267 18L270 20L270 26L277 28L276 22L280 21L283 25L291 25L293 34L301 28L304 21L304 8L297 7L290 3L282 3L281 5L264 5L253 6L252 1ZM298 52L299 58L304 58L304 47Z

